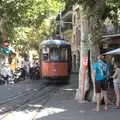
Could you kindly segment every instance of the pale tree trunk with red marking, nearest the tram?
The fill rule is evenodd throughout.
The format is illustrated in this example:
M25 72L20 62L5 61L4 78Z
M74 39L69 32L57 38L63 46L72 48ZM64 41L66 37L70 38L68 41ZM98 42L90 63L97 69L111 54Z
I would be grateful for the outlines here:
M77 100L84 100L85 93L87 91L87 63L88 63L88 16L83 9L80 7L80 18L81 18L81 43L80 43L80 70L79 70L79 87L76 94Z

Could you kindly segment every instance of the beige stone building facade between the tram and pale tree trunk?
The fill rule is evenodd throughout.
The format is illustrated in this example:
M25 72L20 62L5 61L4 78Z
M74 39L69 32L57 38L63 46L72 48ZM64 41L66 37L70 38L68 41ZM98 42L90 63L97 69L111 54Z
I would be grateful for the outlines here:
M62 15L64 39L69 41L72 48L72 72L79 72L80 66L80 12L79 5L74 5Z

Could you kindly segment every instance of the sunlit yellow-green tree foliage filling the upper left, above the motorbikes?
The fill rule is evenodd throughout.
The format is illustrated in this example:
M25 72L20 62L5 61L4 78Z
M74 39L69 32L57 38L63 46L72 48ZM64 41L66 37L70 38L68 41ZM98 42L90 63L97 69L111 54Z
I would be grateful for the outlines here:
M39 41L52 32L51 20L61 6L59 0L1 0L1 39L9 39L14 46L24 46L25 50L38 49Z

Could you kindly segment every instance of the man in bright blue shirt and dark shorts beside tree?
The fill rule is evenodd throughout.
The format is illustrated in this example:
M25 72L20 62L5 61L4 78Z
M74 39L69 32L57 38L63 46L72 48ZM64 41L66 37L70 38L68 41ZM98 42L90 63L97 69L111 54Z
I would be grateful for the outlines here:
M97 57L96 63L93 65L93 74L92 79L95 84L95 91L96 91L96 111L100 111L100 97L101 91L103 92L105 106L104 109L107 111L107 77L109 74L108 65L103 61L103 56L99 55Z

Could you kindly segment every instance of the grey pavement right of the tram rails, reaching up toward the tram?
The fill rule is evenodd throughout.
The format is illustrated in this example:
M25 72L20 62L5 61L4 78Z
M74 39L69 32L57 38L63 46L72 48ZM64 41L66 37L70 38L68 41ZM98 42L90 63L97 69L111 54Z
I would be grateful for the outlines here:
M73 81L72 81L73 82ZM36 120L118 120L120 109L109 106L108 112L101 106L100 112L95 112L94 103L78 103L75 98L76 84L63 86L61 90L52 96Z

